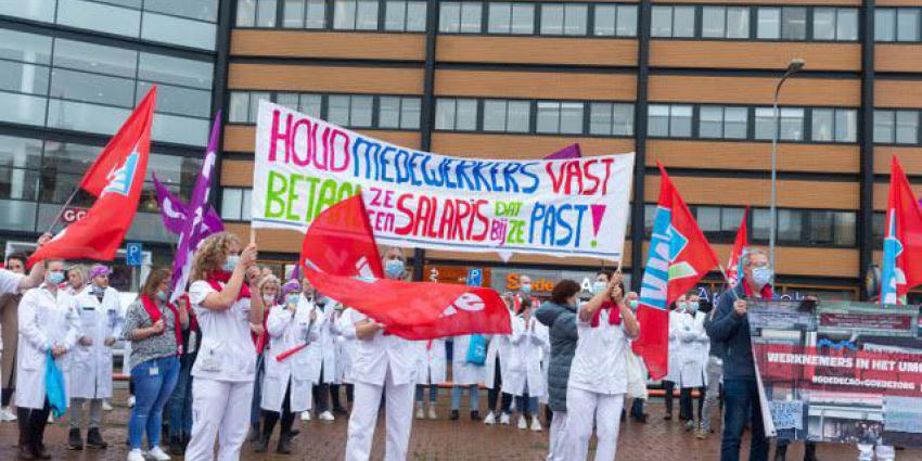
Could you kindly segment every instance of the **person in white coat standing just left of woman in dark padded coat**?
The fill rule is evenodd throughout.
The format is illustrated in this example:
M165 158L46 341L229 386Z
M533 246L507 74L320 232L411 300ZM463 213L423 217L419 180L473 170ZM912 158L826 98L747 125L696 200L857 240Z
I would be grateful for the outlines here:
M532 417L532 431L540 432L538 397L547 393L547 377L541 368L545 349L550 347L548 328L533 317L535 307L530 299L523 299L521 311L512 318L509 373L503 383L504 390L515 396L518 411L518 428L528 427L526 417Z

